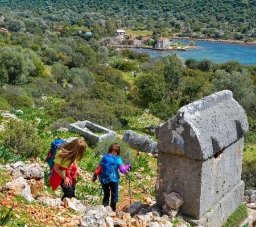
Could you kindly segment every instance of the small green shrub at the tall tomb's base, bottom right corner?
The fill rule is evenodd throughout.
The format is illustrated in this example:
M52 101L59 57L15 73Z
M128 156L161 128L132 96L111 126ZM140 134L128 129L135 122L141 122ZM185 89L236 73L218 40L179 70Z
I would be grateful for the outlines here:
M241 221L245 217L247 217L247 215L248 215L248 211L245 204L241 204L238 206L236 211L234 211L232 215L228 217L228 220L224 225L222 225L222 227L236 227L236 226L238 227L240 226Z

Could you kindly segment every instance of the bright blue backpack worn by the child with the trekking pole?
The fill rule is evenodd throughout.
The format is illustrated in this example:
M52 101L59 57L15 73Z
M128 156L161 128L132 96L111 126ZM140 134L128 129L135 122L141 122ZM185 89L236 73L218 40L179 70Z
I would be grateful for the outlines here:
M114 155L104 155L102 157L100 165L102 166L102 172L99 175L99 180L101 183L108 184L110 181L118 182L118 163L117 158Z

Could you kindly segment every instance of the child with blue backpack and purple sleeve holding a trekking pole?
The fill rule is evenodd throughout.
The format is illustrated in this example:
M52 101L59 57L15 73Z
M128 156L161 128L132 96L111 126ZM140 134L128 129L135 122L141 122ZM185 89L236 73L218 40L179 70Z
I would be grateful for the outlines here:
M127 163L126 166L123 166L122 158L119 157L119 155L120 145L117 142L114 142L110 145L108 154L105 154L100 161L102 171L99 175L99 180L104 191L102 205L104 205L104 207L109 205L109 197L111 193L110 207L113 211L115 211L118 202L118 169L121 173L127 173L131 167L129 163ZM97 175L94 173L93 181L96 179Z

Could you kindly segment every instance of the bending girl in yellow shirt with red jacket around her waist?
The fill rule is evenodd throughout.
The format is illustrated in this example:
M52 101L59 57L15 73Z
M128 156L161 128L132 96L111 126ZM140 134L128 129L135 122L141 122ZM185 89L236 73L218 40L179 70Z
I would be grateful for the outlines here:
M53 191L57 187L61 187L64 192L61 200L65 197L75 197L76 177L79 175L77 161L82 159L86 148L86 142L81 138L77 138L71 142L65 142L56 151L49 184Z

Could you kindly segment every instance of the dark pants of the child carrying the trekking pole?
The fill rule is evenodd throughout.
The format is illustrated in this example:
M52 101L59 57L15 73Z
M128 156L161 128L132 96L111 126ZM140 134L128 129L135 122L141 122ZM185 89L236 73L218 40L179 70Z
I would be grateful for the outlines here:
M110 207L115 211L118 202L118 182L110 181L108 184L101 183L101 185L104 191L102 205L104 205L104 207L109 205L109 196L111 192Z

